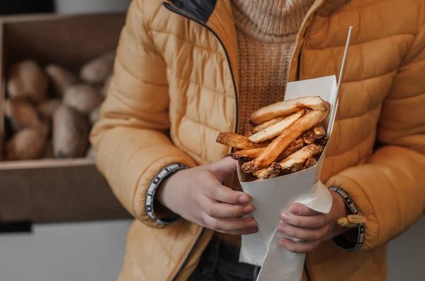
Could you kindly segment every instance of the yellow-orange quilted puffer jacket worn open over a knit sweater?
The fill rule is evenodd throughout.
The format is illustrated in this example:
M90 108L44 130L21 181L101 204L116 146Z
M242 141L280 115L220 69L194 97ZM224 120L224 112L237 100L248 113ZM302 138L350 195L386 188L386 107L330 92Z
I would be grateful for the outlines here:
M339 73L354 27L322 181L367 218L358 251L329 241L307 254L310 280L385 280L385 244L424 214L424 20L423 0L317 0L302 23L290 81ZM158 223L149 185L167 165L228 153L215 139L237 126L237 73L229 0L132 2L91 134L98 168L136 218L120 280L186 280L196 267L212 232Z

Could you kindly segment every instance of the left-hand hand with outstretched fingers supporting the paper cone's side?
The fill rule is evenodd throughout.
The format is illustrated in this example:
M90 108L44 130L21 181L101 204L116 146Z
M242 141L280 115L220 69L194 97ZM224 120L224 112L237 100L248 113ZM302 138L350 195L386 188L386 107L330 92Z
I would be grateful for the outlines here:
M258 231L252 213L251 198L241 191L222 185L235 172L237 161L226 157L218 162L184 169L159 186L157 200L181 217L228 234L252 234Z

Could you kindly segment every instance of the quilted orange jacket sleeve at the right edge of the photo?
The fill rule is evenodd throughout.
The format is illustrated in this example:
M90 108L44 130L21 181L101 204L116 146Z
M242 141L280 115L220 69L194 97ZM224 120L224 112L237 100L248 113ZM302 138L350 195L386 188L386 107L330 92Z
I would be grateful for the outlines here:
M361 251L402 234L425 212L424 20L419 26L382 104L378 124L382 146L366 165L346 169L327 183L346 191L366 217Z

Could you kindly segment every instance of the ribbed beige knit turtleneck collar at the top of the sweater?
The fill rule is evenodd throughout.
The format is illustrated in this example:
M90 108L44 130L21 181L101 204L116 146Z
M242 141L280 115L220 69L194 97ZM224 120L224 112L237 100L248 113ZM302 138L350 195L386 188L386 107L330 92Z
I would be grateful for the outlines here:
M298 32L314 0L232 0L237 28L258 40L279 40Z

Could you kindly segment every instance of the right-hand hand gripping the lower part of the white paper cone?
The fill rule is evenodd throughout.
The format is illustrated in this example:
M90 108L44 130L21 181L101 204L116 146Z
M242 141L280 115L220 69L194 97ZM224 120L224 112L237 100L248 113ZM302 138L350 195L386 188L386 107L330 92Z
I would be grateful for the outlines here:
M331 193L334 201L329 214L318 213L300 203L293 204L290 211L282 214L283 222L278 227L279 232L302 241L282 238L279 241L280 246L294 253L307 253L316 249L322 241L330 240L345 231L336 220L346 217L348 208L341 196Z

